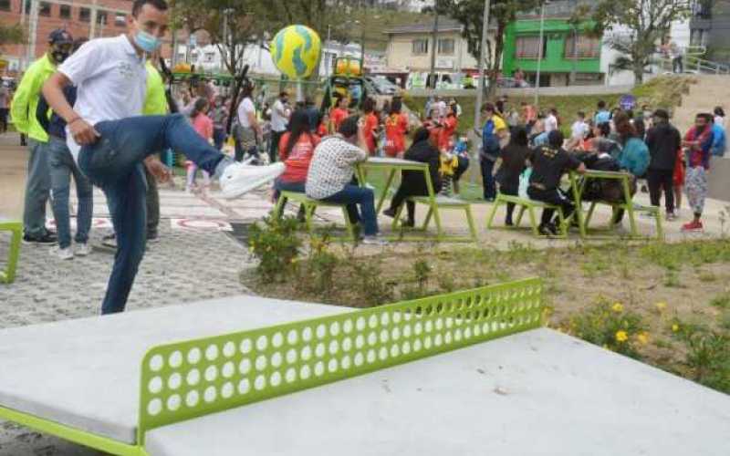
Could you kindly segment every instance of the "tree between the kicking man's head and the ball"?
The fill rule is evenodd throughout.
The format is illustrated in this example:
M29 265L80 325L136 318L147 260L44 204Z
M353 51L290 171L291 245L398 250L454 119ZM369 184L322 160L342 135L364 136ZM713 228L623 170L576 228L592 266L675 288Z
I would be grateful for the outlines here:
M173 0L173 28L189 34L204 30L223 57L225 69L234 76L227 128L235 118L243 84L245 47L266 36L266 5L261 0Z

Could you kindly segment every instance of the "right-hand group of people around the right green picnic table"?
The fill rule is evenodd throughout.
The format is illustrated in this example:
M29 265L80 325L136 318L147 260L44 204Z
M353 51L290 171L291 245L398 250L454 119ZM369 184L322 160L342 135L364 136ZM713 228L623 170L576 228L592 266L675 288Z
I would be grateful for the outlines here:
M528 197L561 206L566 218L574 211L571 194L560 188L560 178L568 171L628 171L631 173L631 196L636 181L649 192L653 206L664 197L667 221L677 220L683 192L693 212L693 219L683 224L683 231L703 229L702 214L707 196L707 172L711 157L725 154L725 111L698 113L694 126L684 135L670 123L665 109L641 112L615 108L609 110L599 101L592 116L576 113L565 138L557 109L545 113L523 102L519 111L501 103L486 103L482 109L484 129L480 152L485 200L493 201L499 192ZM622 202L625 195L615 182L593 182L584 195L586 200ZM508 205L506 224L511 225L513 205ZM612 223L622 231L622 211ZM558 221L546 210L540 233L558 233Z

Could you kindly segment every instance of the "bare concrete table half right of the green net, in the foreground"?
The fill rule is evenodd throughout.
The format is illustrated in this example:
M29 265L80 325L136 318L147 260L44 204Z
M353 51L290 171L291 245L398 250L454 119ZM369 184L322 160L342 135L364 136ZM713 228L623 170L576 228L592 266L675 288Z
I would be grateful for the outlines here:
M151 430L152 456L725 456L730 396L549 329Z

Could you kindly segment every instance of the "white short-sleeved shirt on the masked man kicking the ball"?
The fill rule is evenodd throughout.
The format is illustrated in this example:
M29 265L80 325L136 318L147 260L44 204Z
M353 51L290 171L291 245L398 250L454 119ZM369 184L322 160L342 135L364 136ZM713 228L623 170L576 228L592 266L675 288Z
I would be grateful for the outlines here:
M68 57L58 71L77 87L74 110L90 125L102 120L141 116L147 70L125 35L92 39ZM81 150L68 127L68 149L78 161Z

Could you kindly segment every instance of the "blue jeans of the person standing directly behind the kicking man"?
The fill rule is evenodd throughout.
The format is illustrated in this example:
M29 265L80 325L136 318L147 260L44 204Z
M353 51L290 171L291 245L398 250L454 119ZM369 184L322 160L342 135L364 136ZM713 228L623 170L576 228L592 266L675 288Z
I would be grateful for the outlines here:
M76 242L86 244L91 229L91 214L94 203L91 183L74 162L65 140L51 137L46 150L51 176L51 208L56 219L58 246L62 249L71 245L71 225L68 215L68 191L71 175L76 182L78 214L76 218Z

